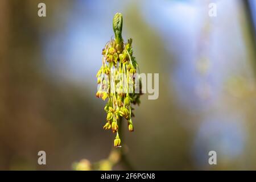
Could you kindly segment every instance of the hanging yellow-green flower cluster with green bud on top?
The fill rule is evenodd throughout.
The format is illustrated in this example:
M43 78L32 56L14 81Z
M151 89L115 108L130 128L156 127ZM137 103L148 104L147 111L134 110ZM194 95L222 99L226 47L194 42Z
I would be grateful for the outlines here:
M141 95L141 80L137 73L138 64L133 56L132 39L127 43L122 39L122 14L117 13L113 19L115 39L106 43L102 50L102 66L97 73L99 85L96 97L108 100L104 110L107 113L104 129L116 133L114 147L121 147L118 125L121 118L127 120L129 131L133 131L134 117L131 104L138 104ZM139 91L138 91L139 90Z

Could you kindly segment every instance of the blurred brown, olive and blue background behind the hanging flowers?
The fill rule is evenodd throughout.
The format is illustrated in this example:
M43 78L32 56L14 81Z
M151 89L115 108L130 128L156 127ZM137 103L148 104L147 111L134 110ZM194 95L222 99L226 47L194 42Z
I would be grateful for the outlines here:
M255 2L1 0L0 169L69 170L108 158L114 135L102 129L96 73L120 12L140 71L159 73L159 98L144 94L135 131L123 128L133 169L255 170ZM211 150L217 165L208 164Z

